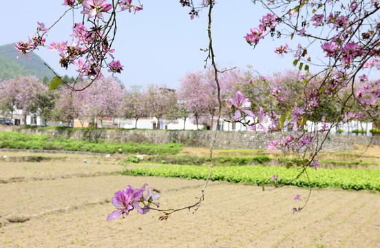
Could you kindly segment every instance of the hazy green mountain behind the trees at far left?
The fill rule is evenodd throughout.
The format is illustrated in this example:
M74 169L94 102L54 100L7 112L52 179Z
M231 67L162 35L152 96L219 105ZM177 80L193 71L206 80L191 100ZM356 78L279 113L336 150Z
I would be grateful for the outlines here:
M48 79L54 77L54 73L50 71L43 59L40 58L34 52L30 52L28 55L32 60L28 60L25 56L20 59L16 59L19 51L13 48L14 43L0 46L0 79L6 79L15 75L28 75L34 74L40 79L47 76Z

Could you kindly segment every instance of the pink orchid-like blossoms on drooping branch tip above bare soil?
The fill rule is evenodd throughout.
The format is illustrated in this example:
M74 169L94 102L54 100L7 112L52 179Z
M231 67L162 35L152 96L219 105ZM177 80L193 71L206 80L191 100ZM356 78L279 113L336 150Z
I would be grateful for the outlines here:
M150 205L156 205L160 207L160 203L154 203L154 201L160 198L160 194L154 194L152 188L150 187L147 190L147 194L144 195L145 187L147 183L142 185L140 189L135 189L128 185L124 190L119 190L115 193L115 197L112 198L112 204L116 207L117 210L113 211L107 217L107 220L113 220L118 218L120 215L128 215L129 211L136 209L139 214L147 214L150 210Z

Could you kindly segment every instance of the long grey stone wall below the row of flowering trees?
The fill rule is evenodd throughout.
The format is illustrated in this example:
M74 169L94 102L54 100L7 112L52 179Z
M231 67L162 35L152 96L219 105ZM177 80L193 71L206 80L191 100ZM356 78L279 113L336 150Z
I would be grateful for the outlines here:
M213 132L180 131L180 130L37 130L23 128L7 128L8 131L28 134L49 134L64 136L74 140L98 140L107 142L149 142L149 143L183 143L187 146L209 147ZM269 141L285 138L289 132L275 132L269 138L263 132L218 132L215 148L224 149L266 149ZM320 136L322 137L322 135ZM354 149L355 144L380 145L380 136L329 135L324 143L325 151Z

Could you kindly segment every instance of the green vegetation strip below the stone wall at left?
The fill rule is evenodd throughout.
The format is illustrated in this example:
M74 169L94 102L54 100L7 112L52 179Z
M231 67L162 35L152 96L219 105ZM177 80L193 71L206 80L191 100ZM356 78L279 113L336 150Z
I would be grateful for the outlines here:
M101 154L178 154L182 144L107 143L74 141L70 138L50 138L47 134L0 132L0 148L56 149L65 151L94 152Z

